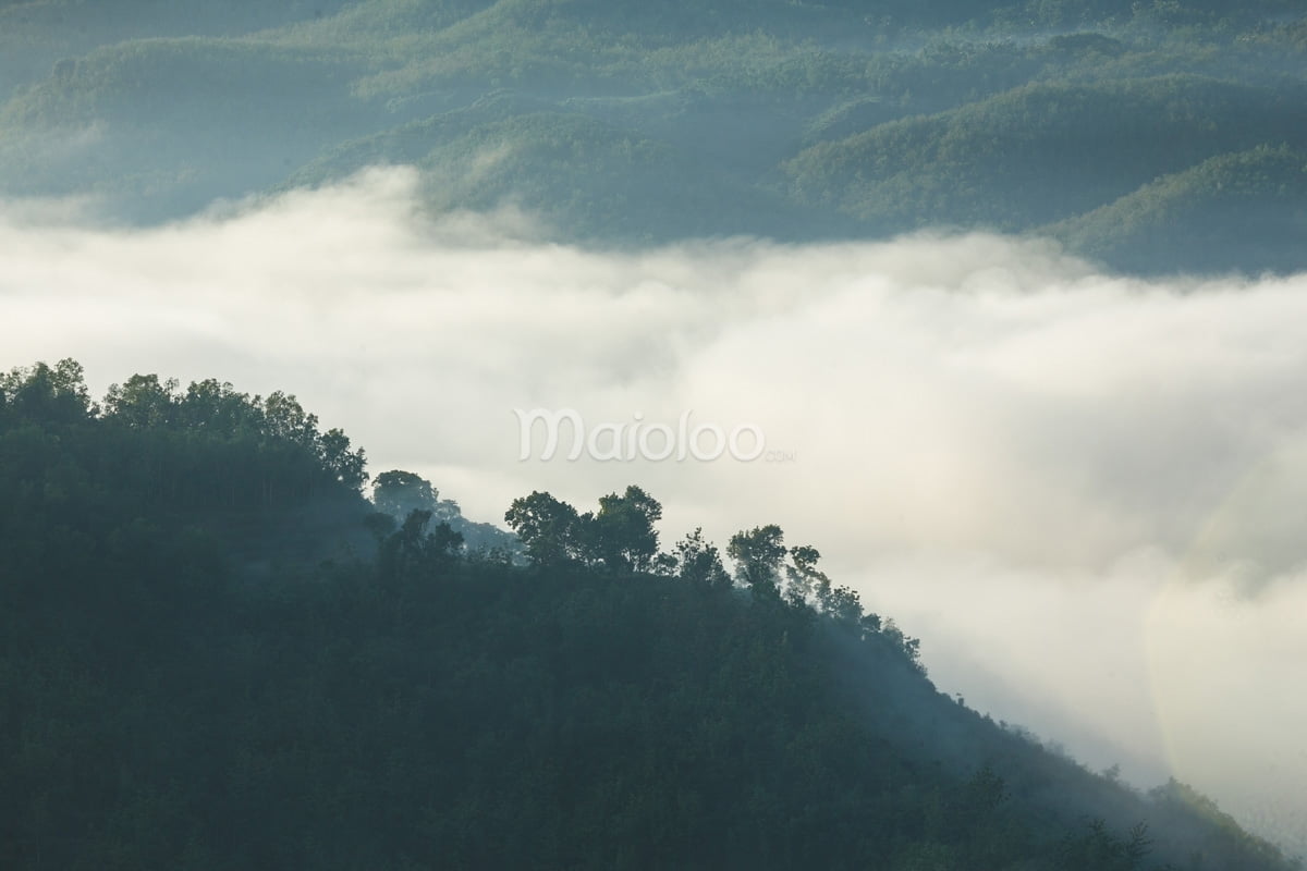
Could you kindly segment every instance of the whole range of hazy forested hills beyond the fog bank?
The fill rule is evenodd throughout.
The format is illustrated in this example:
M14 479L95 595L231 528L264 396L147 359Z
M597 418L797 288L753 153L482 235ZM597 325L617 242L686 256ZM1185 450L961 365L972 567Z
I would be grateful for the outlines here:
M378 163L586 244L988 229L1297 270L1307 4L0 3L0 196L156 222Z

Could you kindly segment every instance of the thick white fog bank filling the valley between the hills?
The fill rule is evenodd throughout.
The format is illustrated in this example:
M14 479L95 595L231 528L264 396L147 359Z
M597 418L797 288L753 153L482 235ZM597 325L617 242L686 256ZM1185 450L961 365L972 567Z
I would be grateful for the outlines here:
M148 231L0 205L0 367L286 389L476 520L639 483L668 545L778 522L941 689L1307 849L1307 276L1142 282L984 235L587 252L414 185ZM521 462L532 407L769 453Z

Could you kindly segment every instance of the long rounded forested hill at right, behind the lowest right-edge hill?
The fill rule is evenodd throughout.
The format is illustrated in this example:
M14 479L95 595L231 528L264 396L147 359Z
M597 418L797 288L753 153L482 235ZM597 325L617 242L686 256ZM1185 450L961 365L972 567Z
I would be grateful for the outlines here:
M805 201L877 229L1025 230L1214 154L1307 145L1304 98L1187 76L1027 85L816 145L787 170Z

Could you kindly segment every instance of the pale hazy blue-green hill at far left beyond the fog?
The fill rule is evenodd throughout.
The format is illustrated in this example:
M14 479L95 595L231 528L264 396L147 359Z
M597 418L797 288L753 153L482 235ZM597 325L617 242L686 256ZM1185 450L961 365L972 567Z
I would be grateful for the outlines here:
M212 38L97 48L0 108L0 178L14 195L106 195L131 217L197 210L367 129L369 110L349 93L363 68L336 52Z

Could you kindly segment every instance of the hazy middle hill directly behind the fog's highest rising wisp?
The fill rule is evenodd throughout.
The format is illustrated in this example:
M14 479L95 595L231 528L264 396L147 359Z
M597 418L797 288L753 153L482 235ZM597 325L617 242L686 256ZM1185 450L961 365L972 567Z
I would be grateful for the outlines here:
M413 165L437 209L514 205L555 232L605 243L656 243L665 227L687 236L775 235L786 231L776 212L797 212L738 175L708 171L667 141L545 106L532 111L523 102L489 98L349 142L285 187L323 184L376 163Z

